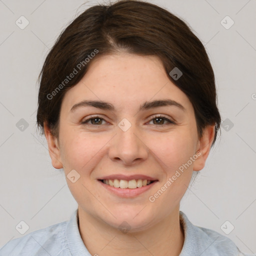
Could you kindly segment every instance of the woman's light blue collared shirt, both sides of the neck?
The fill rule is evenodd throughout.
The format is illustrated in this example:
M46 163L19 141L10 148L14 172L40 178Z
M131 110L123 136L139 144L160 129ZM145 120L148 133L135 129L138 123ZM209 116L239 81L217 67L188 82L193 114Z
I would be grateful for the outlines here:
M193 225L182 211L179 218L184 230L179 256L250 256L241 253L226 236ZM10 240L0 248L0 256L91 256L82 241L77 219L76 209L68 221Z

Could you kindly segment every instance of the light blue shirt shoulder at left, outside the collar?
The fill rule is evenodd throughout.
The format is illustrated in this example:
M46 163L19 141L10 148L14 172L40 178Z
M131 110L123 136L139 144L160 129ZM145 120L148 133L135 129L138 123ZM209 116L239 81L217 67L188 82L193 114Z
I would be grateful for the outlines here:
M0 256L57 255L65 244L67 222L53 224L8 241L0 248Z

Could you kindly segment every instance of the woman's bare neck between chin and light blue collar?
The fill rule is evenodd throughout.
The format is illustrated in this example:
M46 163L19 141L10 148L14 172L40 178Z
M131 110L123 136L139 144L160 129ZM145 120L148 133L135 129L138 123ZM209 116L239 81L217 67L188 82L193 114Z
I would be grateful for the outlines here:
M91 255L178 256L184 234L179 224L179 208L157 224L138 232L122 233L95 219L78 206L79 231Z

